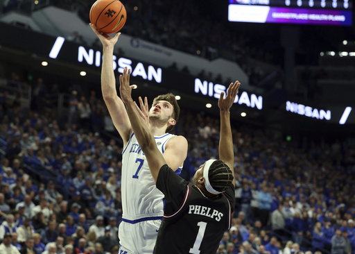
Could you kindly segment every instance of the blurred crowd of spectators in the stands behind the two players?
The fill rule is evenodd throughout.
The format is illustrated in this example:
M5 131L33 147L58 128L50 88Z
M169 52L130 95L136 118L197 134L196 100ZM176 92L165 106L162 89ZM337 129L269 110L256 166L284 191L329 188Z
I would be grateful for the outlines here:
M117 253L119 135L96 92L69 90L58 121L41 100L50 94L43 84L36 80L31 108L0 96L0 253L10 248L3 246ZM190 180L202 162L218 158L219 119L180 106L175 133L189 141L182 177ZM237 202L218 253L355 253L354 144L286 141L233 119L232 127Z

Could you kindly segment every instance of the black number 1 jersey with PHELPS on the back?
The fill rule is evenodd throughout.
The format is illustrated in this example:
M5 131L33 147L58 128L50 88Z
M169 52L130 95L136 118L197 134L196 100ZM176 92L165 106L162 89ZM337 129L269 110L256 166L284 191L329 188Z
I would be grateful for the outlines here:
M214 198L164 165L157 178L165 208L155 254L216 253L225 230L230 228L235 205L234 185Z

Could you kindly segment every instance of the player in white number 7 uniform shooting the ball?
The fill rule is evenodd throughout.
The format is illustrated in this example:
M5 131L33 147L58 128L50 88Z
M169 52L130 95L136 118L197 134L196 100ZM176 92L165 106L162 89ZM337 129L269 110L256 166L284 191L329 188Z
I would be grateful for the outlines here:
M101 89L103 99L123 139L122 159L122 222L119 226L120 253L153 253L157 232L162 222L164 195L155 186L155 181L148 168L148 162L141 151L125 110L125 105L117 96L116 80L112 66L114 45L120 33L114 37L92 30L103 44L103 66L101 71ZM127 69L125 70L127 71ZM166 133L172 129L178 119L180 108L173 94L157 96L153 107L148 111L148 101L139 98L141 112L159 151L174 171L181 170L187 157L187 139ZM149 118L148 118L149 115Z

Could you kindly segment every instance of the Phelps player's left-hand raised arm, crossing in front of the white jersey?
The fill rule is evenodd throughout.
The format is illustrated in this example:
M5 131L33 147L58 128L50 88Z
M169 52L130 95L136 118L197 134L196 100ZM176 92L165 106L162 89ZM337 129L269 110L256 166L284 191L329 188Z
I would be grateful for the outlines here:
M136 105L135 101L132 99L132 86L130 86L130 70L124 69L123 74L119 76L120 87L119 91L121 94L121 99L125 103L127 109L129 121L132 124L132 130L137 137L141 151L146 155L148 161L150 173L155 181L157 181L158 173L160 168L166 164L162 153L160 153L155 143L154 136L150 129L148 128L146 121L142 119L141 112Z

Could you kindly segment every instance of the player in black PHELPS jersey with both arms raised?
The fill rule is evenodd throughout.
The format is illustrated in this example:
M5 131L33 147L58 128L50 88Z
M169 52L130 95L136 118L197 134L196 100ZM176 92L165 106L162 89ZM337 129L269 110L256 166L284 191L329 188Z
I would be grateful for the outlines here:
M164 218L153 253L216 253L223 233L231 226L235 205L230 108L239 90L239 81L230 84L225 98L221 92L218 100L220 160L207 160L202 164L193 176L193 185L166 165L152 133L144 124L144 114L132 100L129 82L130 71L125 69L120 76L121 99L157 188L165 195ZM144 107L143 101L139 101Z

